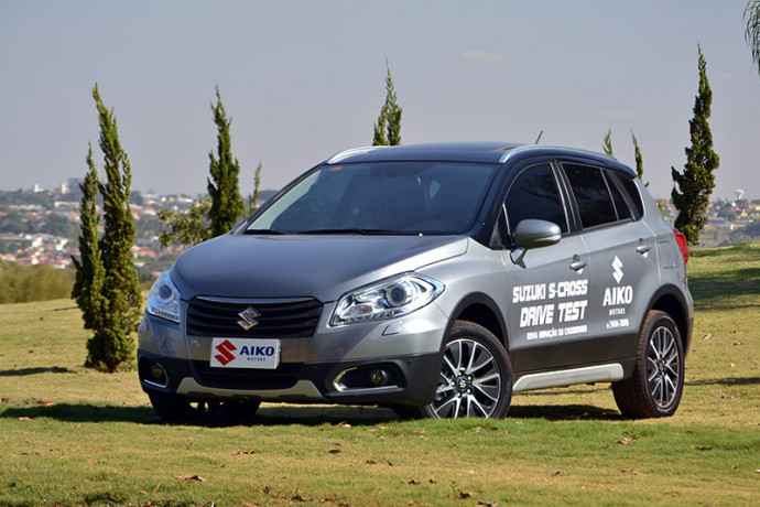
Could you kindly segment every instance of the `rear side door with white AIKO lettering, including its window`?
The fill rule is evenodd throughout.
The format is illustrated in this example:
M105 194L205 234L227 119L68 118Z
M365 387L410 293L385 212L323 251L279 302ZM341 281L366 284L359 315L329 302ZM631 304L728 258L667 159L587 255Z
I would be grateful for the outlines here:
M585 360L631 359L639 326L660 282L654 234L610 170L577 162L564 162L562 169L593 270Z

